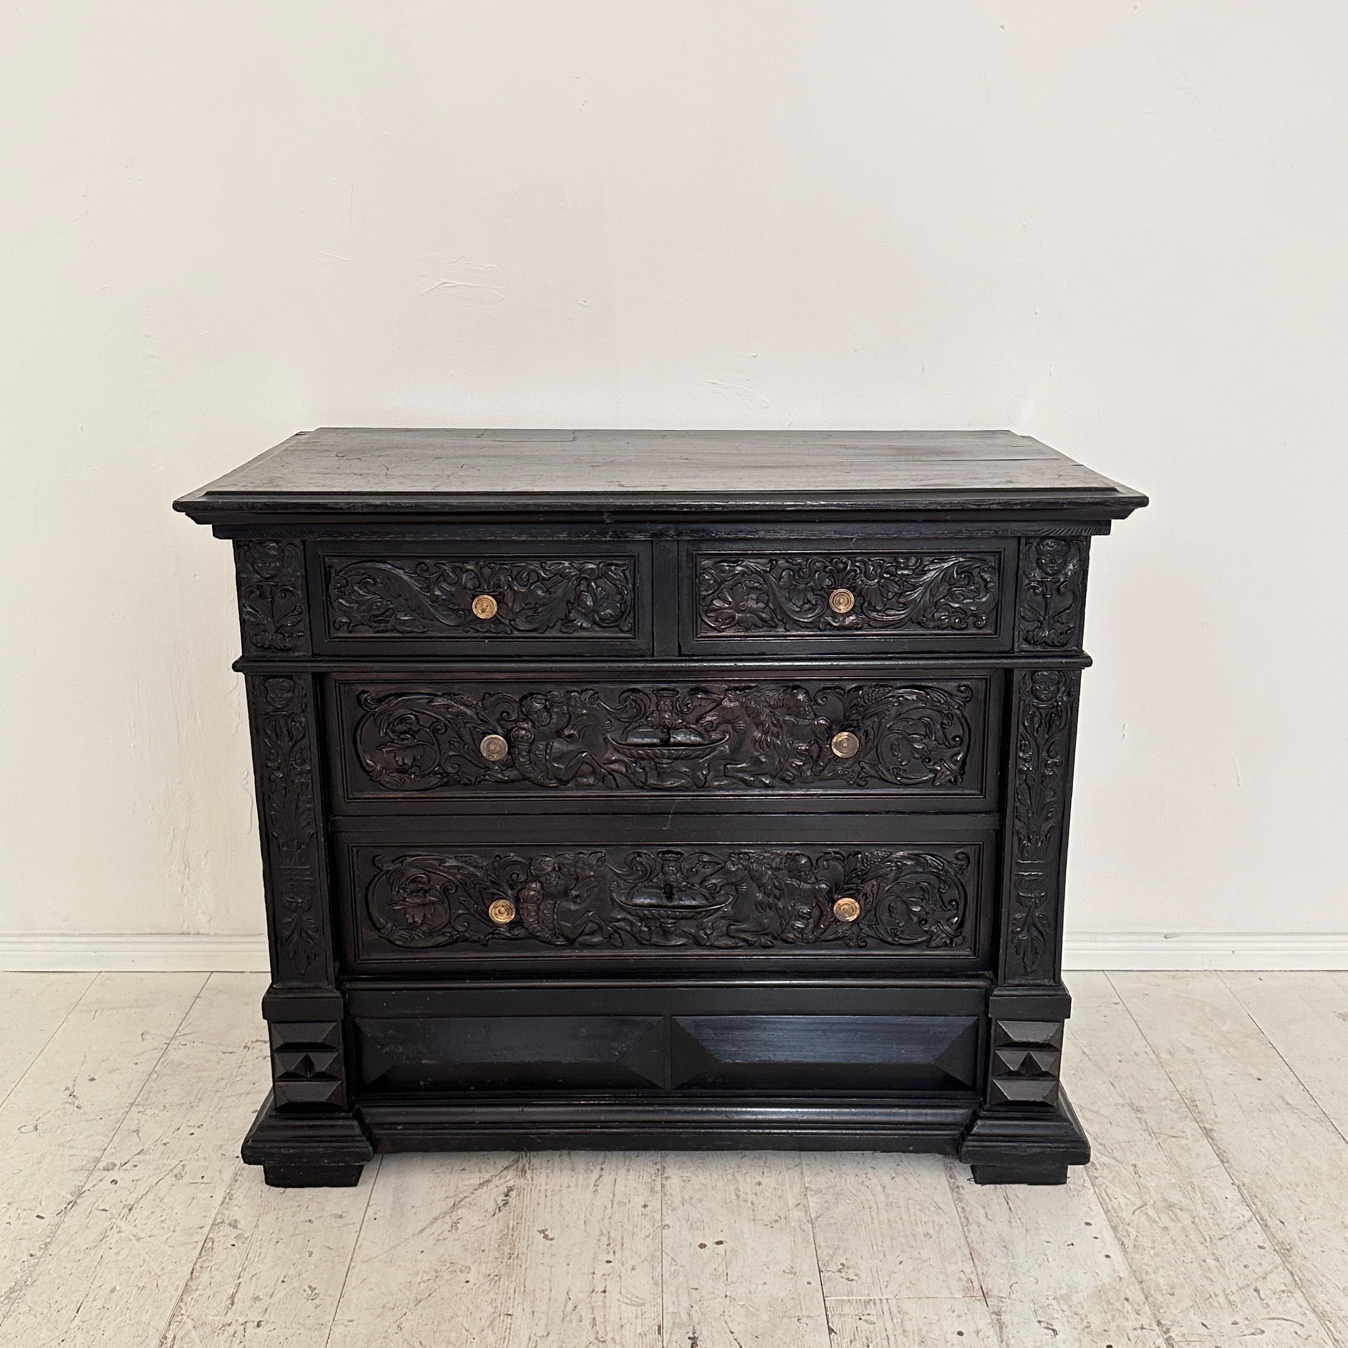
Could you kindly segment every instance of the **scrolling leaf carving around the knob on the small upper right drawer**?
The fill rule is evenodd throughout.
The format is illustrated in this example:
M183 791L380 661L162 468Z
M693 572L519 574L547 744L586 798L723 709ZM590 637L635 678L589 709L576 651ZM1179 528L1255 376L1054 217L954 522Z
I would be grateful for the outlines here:
M853 604L829 604L848 590ZM995 632L998 553L793 553L702 555L697 616L702 632Z

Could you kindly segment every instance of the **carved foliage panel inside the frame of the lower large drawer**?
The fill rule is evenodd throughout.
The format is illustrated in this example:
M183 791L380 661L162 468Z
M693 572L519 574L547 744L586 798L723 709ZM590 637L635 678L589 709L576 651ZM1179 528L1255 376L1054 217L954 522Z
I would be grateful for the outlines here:
M375 945L973 953L981 845L359 848ZM833 905L860 909L842 921ZM847 910L844 910L847 911Z

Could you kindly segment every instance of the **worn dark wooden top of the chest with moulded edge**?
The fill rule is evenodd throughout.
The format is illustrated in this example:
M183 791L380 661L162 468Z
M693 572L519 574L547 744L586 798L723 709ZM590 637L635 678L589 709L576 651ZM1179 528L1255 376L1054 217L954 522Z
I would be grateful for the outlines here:
M1039 503L1120 516L1146 497L1006 430L302 431L177 503L241 510L474 511L608 504L909 510Z

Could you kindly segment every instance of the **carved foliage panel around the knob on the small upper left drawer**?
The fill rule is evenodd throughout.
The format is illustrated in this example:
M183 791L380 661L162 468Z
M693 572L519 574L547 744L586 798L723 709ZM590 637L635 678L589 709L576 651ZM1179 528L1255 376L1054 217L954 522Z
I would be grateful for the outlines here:
M333 557L333 636L619 636L636 631L632 557ZM488 596L480 617L473 600Z

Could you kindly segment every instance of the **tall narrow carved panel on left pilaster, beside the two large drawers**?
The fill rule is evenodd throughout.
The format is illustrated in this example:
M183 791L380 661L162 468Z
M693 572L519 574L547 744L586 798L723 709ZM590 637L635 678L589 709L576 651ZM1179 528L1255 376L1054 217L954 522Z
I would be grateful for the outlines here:
M248 678L263 867L278 980L324 983L328 922L319 863L313 681Z

